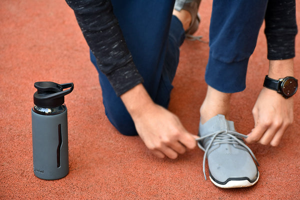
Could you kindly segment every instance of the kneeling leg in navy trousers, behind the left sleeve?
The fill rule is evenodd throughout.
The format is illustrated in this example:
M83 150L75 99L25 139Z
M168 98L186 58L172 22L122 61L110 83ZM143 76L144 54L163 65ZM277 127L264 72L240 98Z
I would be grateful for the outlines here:
M179 46L184 39L182 24L172 17L173 2L149 1L145 6L144 2L112 0L112 4L134 63L143 76L144 87L154 102L167 107ZM168 35L169 29L172 31ZM96 66L93 54L90 56ZM105 114L110 122L122 134L136 135L129 113L100 71L99 81Z

